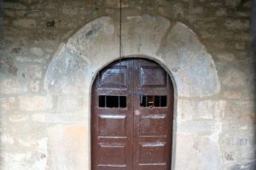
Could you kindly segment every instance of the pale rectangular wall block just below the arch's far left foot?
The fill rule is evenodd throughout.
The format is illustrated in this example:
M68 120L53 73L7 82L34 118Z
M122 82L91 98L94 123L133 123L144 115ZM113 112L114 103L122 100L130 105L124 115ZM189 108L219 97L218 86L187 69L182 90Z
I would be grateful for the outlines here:
M51 96L20 96L19 103L22 111L45 111L53 105Z

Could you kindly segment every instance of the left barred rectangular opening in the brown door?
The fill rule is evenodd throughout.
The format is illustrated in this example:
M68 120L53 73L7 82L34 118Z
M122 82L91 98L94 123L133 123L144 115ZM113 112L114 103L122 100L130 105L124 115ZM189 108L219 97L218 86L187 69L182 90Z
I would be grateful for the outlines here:
M126 96L99 96L99 107L103 108L125 108Z

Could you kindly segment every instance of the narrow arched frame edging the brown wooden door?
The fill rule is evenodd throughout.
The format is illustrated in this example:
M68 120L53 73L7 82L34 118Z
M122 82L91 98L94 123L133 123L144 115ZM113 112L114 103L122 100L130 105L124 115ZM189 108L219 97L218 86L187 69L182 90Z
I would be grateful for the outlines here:
M176 132L177 132L177 84L175 82L175 79L174 77L172 76L172 72L167 68L167 66L165 64L163 64L162 62L160 62L158 59L154 59L152 57L148 57L148 56L145 56L145 55L132 55L132 56L127 56L127 57L122 57L122 58L119 58L119 59L148 59L149 61L152 61L158 65L160 65L160 67L162 69L164 69L166 71L166 73L168 74L168 76L171 78L171 81L172 81L172 85L173 85L173 116L172 116L172 153L171 153L171 170L174 170L175 168L175 153L176 153ZM111 65L113 62L115 61L118 61L119 59L113 59L113 60L109 60L108 63L106 63L105 65L102 65L101 68L99 68L95 74L94 74L94 77L92 79L92 81L90 81L90 117L89 117L89 126L90 126L90 169L91 169L91 162L92 162L92 151L91 151L91 148L92 148L92 144L91 144L91 139L92 139L92 128L91 128L91 114L92 114L92 108L91 108L91 99L92 99L92 88L93 88L93 84L94 82L96 81L96 77L98 75L98 73L100 71L102 71L102 69L106 68L108 65Z

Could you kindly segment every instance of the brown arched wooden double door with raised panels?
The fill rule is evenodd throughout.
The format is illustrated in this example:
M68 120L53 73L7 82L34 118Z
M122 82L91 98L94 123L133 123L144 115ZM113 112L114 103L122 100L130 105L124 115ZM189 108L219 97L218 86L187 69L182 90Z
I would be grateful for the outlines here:
M91 113L93 170L171 169L173 87L160 65L108 65L93 85Z

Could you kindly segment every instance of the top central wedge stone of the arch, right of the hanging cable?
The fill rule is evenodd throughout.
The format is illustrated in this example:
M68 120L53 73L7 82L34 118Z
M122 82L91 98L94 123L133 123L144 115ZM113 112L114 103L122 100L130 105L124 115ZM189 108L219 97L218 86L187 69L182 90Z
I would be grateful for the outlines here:
M170 21L160 16L143 15L129 18L123 26L123 55L156 54L169 26Z

